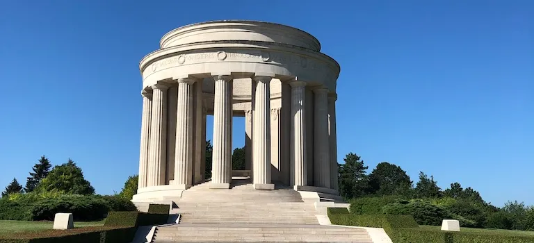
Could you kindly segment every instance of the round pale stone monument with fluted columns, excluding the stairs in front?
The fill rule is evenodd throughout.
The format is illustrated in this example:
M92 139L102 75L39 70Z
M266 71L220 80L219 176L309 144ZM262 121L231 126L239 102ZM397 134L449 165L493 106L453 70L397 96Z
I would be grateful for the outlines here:
M179 198L199 183L229 190L232 176L256 190L338 194L340 69L314 36L268 22L191 24L163 35L139 69L134 203ZM213 115L211 180L204 173L207 115ZM232 171L232 117L245 117L245 170Z

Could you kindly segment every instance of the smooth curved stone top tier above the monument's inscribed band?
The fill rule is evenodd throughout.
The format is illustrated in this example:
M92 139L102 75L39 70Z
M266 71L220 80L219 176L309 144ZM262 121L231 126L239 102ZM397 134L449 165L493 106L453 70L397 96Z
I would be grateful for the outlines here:
M161 49L206 41L259 41L289 44L321 51L313 35L298 28L257 21L213 21L175 28L160 40Z

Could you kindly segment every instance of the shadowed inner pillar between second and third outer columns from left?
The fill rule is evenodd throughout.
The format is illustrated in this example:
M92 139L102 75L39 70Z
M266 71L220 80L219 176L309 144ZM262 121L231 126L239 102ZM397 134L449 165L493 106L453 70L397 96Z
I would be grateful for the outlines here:
M178 86L172 85L167 90L167 169L165 182L169 184L175 179L176 151L176 112L178 102Z

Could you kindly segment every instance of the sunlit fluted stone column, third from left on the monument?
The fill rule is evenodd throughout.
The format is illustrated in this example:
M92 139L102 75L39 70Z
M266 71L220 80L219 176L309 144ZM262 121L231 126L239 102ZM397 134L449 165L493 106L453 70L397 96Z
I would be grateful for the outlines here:
M192 78L178 79L174 184L181 189L193 184L193 83Z

